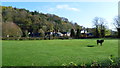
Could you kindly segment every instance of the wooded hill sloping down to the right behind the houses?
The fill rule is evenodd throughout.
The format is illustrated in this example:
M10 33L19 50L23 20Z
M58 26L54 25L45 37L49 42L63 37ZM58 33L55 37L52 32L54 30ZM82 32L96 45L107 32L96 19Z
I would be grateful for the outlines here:
M15 23L22 30L23 34L21 35L24 37L26 36L26 33L38 33L40 30L44 32L70 32L71 29L82 29L82 26L77 23L72 23L67 18L59 17L54 14L44 14L11 6L1 7L2 23ZM13 26L14 25L10 25L7 29ZM3 25L3 27L5 26ZM4 29L3 33L5 33Z

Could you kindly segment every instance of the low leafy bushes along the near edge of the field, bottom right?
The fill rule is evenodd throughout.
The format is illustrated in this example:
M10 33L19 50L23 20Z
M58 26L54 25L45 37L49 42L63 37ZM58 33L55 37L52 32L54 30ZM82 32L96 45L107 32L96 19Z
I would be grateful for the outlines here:
M120 58L114 58L114 62L111 62L109 59L104 60L102 62L100 61L93 61L92 64L87 65L85 63L82 63L81 65L77 65L73 62L70 62L69 64L62 64L65 68L119 68L120 67Z

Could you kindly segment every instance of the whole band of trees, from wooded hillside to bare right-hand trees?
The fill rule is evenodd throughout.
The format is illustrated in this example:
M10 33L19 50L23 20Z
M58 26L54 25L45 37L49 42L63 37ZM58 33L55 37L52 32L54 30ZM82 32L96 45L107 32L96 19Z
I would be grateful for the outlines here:
M71 37L80 38L82 30L91 32L94 37L111 35L111 30L107 28L106 20L101 17L93 19L93 28L85 28L55 14L44 14L11 6L1 7L3 37L8 35L11 37L28 37L28 33L40 33L40 36L45 36L46 32L70 32ZM113 23L117 29L118 36L120 36L119 20L120 17L117 16L114 18Z

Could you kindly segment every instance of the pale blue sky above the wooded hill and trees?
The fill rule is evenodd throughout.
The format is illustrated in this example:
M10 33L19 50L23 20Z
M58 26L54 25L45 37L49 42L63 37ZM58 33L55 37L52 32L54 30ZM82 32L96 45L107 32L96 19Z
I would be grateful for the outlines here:
M2 2L2 6L55 14L86 28L93 27L95 17L102 17L108 28L114 30L113 18L118 15L118 2Z

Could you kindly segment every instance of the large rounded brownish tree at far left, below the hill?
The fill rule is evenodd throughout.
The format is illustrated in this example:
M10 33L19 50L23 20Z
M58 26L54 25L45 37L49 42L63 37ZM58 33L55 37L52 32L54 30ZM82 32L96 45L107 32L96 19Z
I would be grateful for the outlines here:
M2 36L3 37L21 37L22 30L13 22L2 23Z

